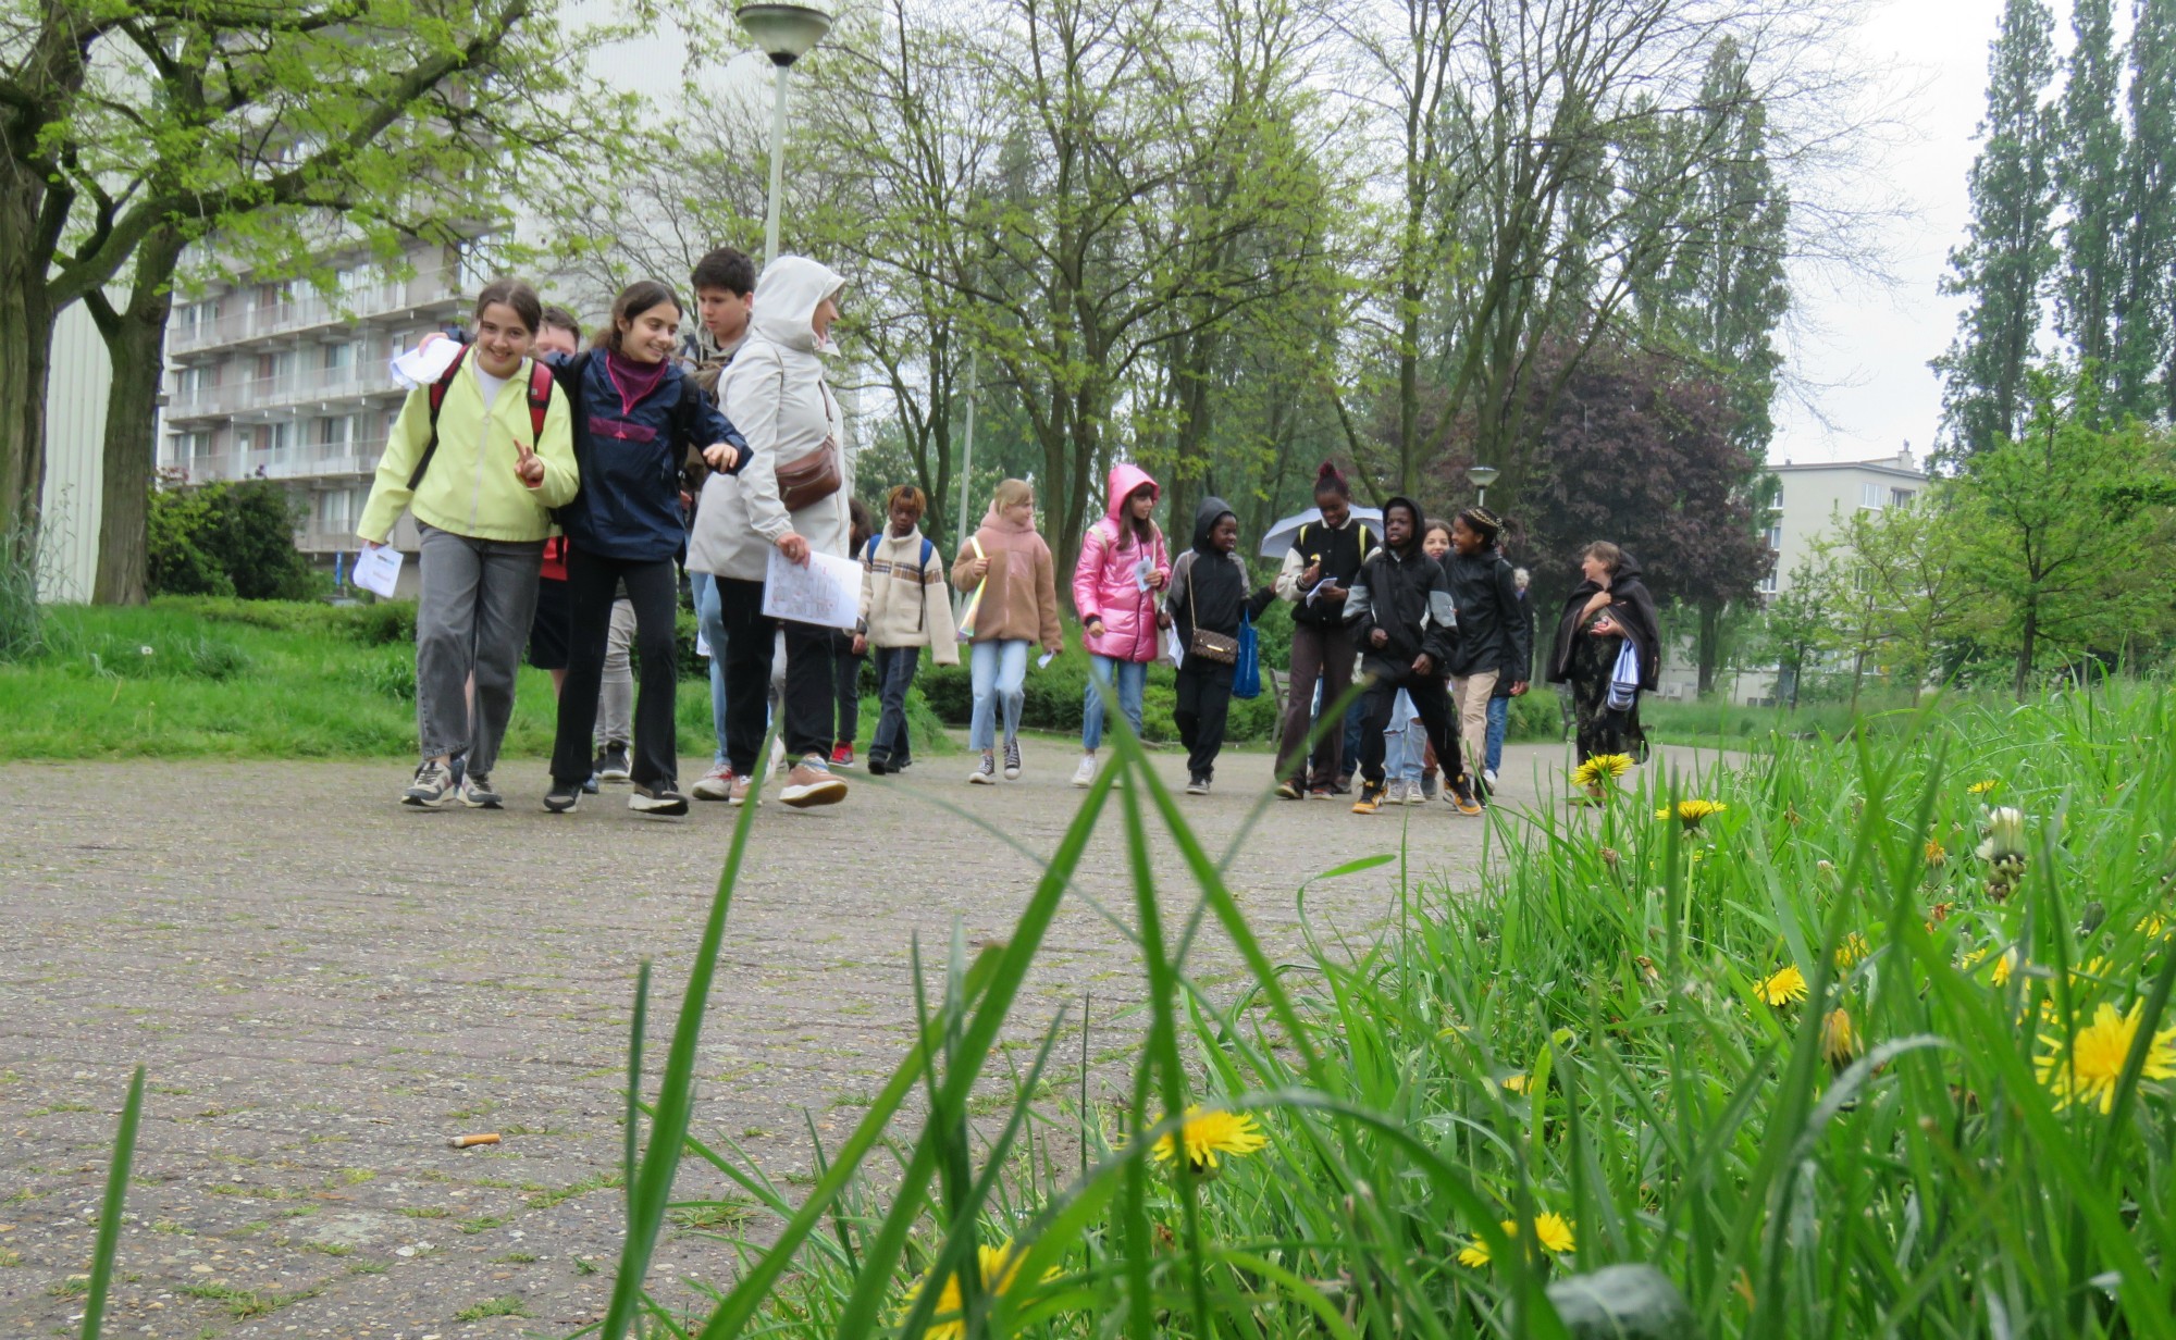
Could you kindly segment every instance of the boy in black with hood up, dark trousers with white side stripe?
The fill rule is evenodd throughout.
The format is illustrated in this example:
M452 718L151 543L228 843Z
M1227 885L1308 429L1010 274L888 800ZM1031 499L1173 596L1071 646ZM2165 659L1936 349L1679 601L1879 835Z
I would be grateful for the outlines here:
M1382 539L1345 600L1345 613L1360 635L1360 666L1369 677L1367 727L1360 733L1360 774L1367 781L1353 814L1375 814L1382 805L1382 733L1390 727L1397 690L1406 690L1412 709L1421 714L1458 814L1480 814L1473 779L1458 753L1451 694L1443 683L1458 648L1451 583L1421 550L1421 509L1410 498L1384 502Z

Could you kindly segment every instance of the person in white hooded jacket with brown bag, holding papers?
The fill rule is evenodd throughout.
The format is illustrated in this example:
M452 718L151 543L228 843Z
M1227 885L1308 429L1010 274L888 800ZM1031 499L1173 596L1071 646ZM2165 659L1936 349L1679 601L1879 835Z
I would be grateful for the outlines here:
M755 281L749 339L718 383L725 413L751 446L738 476L712 474L703 485L688 570L718 581L725 616L725 746L733 770L731 801L755 787L755 750L764 742L764 687L770 679L772 629L786 631L783 724L788 757L799 759L779 798L786 805L829 805L846 796L831 774L831 629L764 618L764 572L770 550L801 563L809 553L849 557L853 455L844 446L838 398L825 383L823 359L836 352L831 322L846 281L807 257L779 257ZM779 472L794 474L836 457L838 487L788 511Z

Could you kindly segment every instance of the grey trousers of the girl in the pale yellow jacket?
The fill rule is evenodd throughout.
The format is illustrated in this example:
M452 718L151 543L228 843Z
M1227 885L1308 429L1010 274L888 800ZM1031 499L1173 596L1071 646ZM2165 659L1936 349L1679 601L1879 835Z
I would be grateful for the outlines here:
M537 609L544 542L470 539L418 526L416 735L422 757L466 757L485 777L514 716L514 674ZM477 709L468 709L468 677Z

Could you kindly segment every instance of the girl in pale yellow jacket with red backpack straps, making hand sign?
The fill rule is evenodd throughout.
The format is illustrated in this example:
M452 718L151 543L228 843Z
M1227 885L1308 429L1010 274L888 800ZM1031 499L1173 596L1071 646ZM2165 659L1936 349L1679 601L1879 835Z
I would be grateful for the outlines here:
M448 796L498 809L492 766L514 714L514 672L537 603L551 509L574 498L568 402L529 348L544 305L500 278L477 296L474 344L409 392L355 526L385 544L400 511L422 533L416 603L416 733L422 764L403 803ZM474 707L468 681L474 674ZM453 764L463 764L455 787Z

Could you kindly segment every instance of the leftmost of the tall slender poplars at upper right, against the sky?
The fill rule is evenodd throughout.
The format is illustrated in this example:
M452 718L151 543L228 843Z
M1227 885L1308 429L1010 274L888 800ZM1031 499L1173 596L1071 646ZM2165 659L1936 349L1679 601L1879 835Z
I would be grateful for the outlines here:
M2041 298L2054 268L2054 20L2041 0L2008 0L1989 57L1987 117L1971 163L1971 224L1950 252L1943 291L1961 294L1956 342L1934 359L1943 415L1963 452L2017 431L2037 357Z

